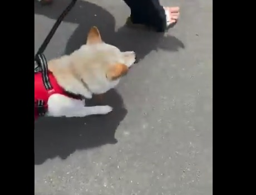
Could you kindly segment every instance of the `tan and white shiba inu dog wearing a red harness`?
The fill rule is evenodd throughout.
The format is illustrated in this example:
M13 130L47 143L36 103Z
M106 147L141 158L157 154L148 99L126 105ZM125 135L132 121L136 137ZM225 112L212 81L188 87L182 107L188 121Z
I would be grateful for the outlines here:
M92 27L80 49L48 61L47 82L51 83L51 90L45 88L42 72L35 72L35 119L41 115L38 107L43 108L46 116L53 117L111 112L112 107L107 105L86 107L80 97L91 99L93 94L115 88L135 60L134 52L121 52L105 43L97 27Z

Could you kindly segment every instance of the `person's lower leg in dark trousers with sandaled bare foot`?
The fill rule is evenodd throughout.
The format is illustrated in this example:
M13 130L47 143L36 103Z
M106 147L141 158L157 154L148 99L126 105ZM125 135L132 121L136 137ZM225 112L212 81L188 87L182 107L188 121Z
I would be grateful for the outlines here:
M124 0L131 9L133 24L144 24L164 32L175 24L179 17L179 7L163 7L159 0Z

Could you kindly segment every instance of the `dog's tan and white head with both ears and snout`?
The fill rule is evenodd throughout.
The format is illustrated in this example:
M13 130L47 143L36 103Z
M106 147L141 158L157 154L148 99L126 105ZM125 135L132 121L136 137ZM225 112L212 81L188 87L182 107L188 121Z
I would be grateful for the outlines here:
M97 27L90 29L87 42L78 50L78 55L83 61L81 77L93 94L114 88L136 60L134 52L121 52L114 45L105 43Z

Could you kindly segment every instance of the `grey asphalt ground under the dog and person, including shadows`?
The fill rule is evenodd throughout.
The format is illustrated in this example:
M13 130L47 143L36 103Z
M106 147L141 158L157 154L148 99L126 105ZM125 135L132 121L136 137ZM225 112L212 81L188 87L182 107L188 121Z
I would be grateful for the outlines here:
M35 2L35 52L70 1ZM125 27L121 0L78 0L63 20L47 59L79 48L96 25L139 63L106 94L111 114L37 121L36 195L213 194L213 3L161 3L181 8L165 34Z

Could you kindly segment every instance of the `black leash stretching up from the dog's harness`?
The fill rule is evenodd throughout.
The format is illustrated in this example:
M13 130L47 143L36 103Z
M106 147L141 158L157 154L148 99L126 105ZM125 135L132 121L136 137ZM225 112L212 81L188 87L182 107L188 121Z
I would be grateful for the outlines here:
M43 41L41 47L38 49L38 52L35 55L35 60L38 60L38 55L42 54L43 52L45 52L45 49L48 45L48 43L50 42L50 40L52 39L53 35L55 34L58 26L61 24L62 20L65 18L65 16L67 15L68 12L70 12L70 10L73 8L73 6L75 6L77 0L72 0L72 2L67 6L67 8L62 12L62 14L58 17L57 21L55 22L55 24L53 25L50 33L48 33L47 37L45 38L45 40Z

